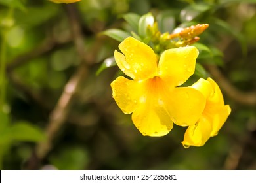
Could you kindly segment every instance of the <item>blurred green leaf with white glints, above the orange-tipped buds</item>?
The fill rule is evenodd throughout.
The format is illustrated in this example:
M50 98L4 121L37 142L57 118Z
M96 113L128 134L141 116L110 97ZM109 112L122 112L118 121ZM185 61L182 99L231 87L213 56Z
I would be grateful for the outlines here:
M181 22L189 22L194 20L198 16L202 15L207 10L211 9L211 5L206 3L197 3L188 5L186 8L181 10L180 18Z

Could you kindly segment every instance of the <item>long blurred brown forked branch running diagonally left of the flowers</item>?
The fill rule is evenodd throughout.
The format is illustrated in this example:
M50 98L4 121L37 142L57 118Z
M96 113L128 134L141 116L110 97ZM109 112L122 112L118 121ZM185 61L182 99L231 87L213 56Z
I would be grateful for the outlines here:
M85 52L83 42L84 37L81 32L79 16L77 15L78 10L75 5L72 4L66 5L65 8L67 10L74 44L77 49L77 53L81 58L81 65L79 65L77 72L70 78L70 80L68 80L62 95L60 95L60 99L49 116L49 124L46 128L47 140L38 144L36 148L37 156L40 159L43 159L49 150L51 150L54 135L58 133L60 127L62 127L64 122L66 122L70 108L72 107L74 94L77 92L80 82L84 80L85 76L87 75L89 70L88 68L95 61L96 52L98 52L99 48L98 45L100 44L99 42L101 42L100 39L98 39L95 42L93 50L89 50L91 52L88 53Z

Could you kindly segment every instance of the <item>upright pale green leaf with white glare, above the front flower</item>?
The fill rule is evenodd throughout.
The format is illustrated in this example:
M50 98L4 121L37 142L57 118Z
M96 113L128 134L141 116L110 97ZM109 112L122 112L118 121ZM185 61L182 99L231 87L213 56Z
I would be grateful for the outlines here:
M148 29L148 25L153 26L154 24L154 16L149 12L141 16L139 20L138 33L139 36L144 39L146 37L146 29Z

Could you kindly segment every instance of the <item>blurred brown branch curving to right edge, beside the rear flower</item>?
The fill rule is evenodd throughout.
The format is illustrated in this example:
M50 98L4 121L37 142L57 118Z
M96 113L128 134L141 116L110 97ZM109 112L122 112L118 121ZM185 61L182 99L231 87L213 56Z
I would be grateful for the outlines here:
M224 92L234 101L244 105L256 105L256 91L244 93L233 86L216 65L205 65L205 67L213 78L218 80L218 84Z

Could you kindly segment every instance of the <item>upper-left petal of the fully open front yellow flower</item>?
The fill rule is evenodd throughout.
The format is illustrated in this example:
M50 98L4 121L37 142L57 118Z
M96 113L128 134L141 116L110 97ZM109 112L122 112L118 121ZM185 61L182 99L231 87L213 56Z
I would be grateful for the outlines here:
M115 51L114 57L125 75L134 80L145 80L157 75L157 58L150 46L127 37L119 44L119 49L123 54Z

